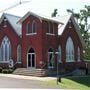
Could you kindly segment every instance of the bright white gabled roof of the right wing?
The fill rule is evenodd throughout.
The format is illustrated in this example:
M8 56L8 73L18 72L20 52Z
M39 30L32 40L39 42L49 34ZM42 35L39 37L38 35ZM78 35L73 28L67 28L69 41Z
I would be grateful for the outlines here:
M69 20L71 19L71 20L72 20L72 23L73 23L73 25L74 25L74 27L75 27L75 30L76 30L79 38L80 38L80 41L81 41L83 47L85 46L84 40L83 40L83 38L82 38L80 29L79 29L79 26L78 26L78 24L76 23L76 21L75 21L75 19L74 19L74 17L73 17L72 14L68 14L68 15L65 15L65 16L62 16L62 17L55 17L55 19L60 20L62 23L64 23L64 25L59 25L59 26L58 26L58 35L62 35L62 34L63 34L67 23L68 23Z

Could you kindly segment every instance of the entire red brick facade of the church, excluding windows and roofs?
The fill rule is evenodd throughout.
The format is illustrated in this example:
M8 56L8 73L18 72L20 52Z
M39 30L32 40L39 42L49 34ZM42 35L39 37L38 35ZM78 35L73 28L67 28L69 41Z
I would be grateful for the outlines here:
M26 26L27 23L35 20L37 23L36 26L36 34L33 35L27 35L26 32ZM47 23L53 23L54 25L54 34L49 35L47 34ZM83 46L80 41L80 38L75 30L75 27L73 23L71 23L71 28L69 27L69 24L67 23L65 30L63 31L62 35L58 35L58 23L50 20L41 20L40 18L34 16L34 15L29 15L22 23L21 23L21 31L22 35L19 36L15 32L15 30L12 28L10 23L7 21L6 22L6 27L3 27L4 22L0 24L0 45L5 36L7 36L11 42L11 52L12 52L12 59L14 60L14 63L17 62L17 46L18 44L21 45L21 56L22 56L22 61L20 64L16 64L15 67L24 67L27 68L27 54L30 48L33 48L36 54L36 61L35 61L35 68L47 68L48 67L48 50L50 48L53 49L54 53L58 46L61 46L61 60L62 60L62 67L68 67L68 64L71 63L71 68L72 66L76 65L78 63L82 63L82 55L83 55ZM32 28L32 27L30 27ZM66 42L68 37L71 37L74 43L74 50L75 50L75 62L66 62ZM80 59L81 61L77 61L77 50L78 46L80 47ZM40 63L43 62L43 63ZM57 62L57 57L54 57L54 63L56 66ZM45 66L43 66L45 64ZM0 63L0 66L7 67L7 65ZM74 67L73 66L73 67Z

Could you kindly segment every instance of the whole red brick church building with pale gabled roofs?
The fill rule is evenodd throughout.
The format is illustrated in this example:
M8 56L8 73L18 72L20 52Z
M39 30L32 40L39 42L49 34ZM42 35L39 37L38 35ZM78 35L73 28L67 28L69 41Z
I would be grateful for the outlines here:
M83 46L72 15L51 18L28 12L22 18L3 14L0 19L0 67L22 70L74 70L83 64ZM58 52L58 54L56 54Z

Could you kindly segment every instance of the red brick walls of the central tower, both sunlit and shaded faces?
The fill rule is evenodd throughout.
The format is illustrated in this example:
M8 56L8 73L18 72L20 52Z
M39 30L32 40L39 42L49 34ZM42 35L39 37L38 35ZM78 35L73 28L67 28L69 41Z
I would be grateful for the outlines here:
M26 24L28 21L32 23L35 20L37 23L37 34L36 35L26 35ZM36 18L30 15L22 23L22 58L23 58L23 67L27 67L27 52L30 47L33 47L36 52L36 68L42 68L40 61L47 63L47 52L49 48L55 50L57 48L57 24L55 26L55 35L46 35L46 23L47 21L40 21L39 18Z

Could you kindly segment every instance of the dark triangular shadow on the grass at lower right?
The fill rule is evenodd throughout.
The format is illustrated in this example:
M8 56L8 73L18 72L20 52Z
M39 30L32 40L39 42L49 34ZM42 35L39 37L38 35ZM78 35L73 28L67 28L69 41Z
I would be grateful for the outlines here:
M81 77L77 76L77 77L66 77L66 78L90 87L90 76L81 76Z

